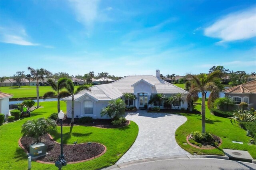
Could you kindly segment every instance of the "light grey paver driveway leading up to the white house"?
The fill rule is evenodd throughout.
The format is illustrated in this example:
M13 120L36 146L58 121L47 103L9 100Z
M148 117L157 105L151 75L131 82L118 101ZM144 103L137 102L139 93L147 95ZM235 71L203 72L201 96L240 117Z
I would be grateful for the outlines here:
M117 164L145 158L189 154L175 140L175 131L186 122L186 117L140 110L137 113L128 113L126 119L137 123L139 133L132 147L116 162Z

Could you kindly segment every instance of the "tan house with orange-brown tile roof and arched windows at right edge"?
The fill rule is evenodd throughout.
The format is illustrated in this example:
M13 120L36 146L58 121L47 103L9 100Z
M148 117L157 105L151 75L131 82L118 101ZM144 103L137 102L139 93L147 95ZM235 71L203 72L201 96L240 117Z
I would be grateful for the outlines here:
M256 80L223 90L226 97L231 97L238 109L241 102L248 104L248 109L256 108Z

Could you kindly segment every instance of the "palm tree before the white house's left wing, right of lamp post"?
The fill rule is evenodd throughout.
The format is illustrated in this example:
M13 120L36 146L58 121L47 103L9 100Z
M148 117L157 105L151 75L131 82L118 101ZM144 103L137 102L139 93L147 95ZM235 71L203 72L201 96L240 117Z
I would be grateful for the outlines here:
M89 89L89 87L87 87L86 85L81 85L79 86L76 91L75 91L75 86L74 83L72 82L72 80L68 79L66 81L66 89L67 91L70 93L71 97L72 97L72 107L71 107L71 123L74 123L74 96L79 93L80 91L83 90L87 90L87 91L91 91Z

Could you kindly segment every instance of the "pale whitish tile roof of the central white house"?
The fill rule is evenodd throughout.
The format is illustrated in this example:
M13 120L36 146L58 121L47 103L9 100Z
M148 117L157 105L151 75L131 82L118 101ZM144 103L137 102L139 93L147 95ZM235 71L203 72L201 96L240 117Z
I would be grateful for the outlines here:
M138 81L146 81L153 85L152 94L163 93L163 94L177 94L183 93L188 94L187 91L183 90L180 87L177 87L171 83L168 83L160 78L157 78L152 75L135 75L135 76L126 76L122 79L114 81L109 84L103 85L94 85L90 87L91 92L89 91L81 91L80 93L74 96L74 99L78 99L84 96L86 93L97 100L111 100L117 99L123 96L123 93L134 93L133 84L137 83ZM66 97L63 100L70 101L72 97Z

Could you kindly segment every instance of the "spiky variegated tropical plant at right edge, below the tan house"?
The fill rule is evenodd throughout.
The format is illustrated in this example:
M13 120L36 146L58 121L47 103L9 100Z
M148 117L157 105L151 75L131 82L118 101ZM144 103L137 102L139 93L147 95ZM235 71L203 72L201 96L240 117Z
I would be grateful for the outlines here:
M239 110L239 111L235 111L233 113L233 117L230 119L230 122L233 124L236 124L236 122L238 124L240 124L240 122L252 122L256 120L256 116L253 116L250 114L250 111L244 111L243 109Z

